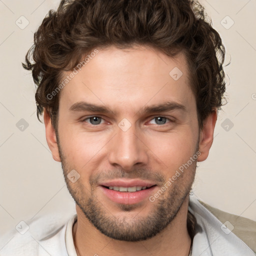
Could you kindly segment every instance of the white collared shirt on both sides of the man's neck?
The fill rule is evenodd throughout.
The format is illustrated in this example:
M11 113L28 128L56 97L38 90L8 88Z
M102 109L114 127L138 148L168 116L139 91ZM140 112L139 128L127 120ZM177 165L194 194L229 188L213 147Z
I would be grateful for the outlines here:
M189 195L188 210L197 221L191 256L255 256L193 195ZM0 256L77 256L72 237L76 219L75 213L69 219L63 219L59 214L46 215L32 222L27 221L27 231L25 224L20 224L23 228L21 233L25 233L15 229L1 237Z

